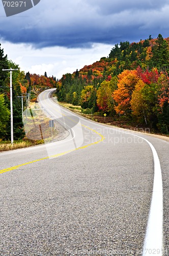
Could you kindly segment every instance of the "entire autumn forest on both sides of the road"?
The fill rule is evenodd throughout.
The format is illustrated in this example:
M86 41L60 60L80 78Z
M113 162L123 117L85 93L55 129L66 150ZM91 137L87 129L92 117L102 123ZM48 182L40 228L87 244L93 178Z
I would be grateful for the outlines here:
M10 141L10 72L12 74L14 140L25 138L21 97L28 100L48 88L57 88L59 101L81 107L81 112L150 127L169 134L169 37L151 35L139 42L116 44L107 57L73 74L55 77L26 74L4 55L0 44L0 142Z

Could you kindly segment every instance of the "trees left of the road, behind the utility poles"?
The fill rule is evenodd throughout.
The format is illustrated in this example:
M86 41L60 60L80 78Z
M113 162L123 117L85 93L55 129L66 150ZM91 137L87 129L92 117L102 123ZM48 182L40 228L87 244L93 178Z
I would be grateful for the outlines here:
M26 74L19 66L4 55L0 44L0 143L11 139L10 117L10 72L3 69L18 69L12 72L12 98L13 98L13 137L14 141L25 138L21 97L23 96L24 108L31 101L37 100L37 95L48 88L56 87L56 78L37 74ZM31 93L30 93L31 92Z

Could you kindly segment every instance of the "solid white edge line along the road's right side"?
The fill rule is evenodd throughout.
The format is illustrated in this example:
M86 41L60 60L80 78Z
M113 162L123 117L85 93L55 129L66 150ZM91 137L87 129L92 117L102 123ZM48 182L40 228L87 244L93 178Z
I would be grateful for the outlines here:
M96 123L98 126L101 124ZM107 129L116 130L111 127ZM146 229L146 236L144 240L144 246L142 250L142 256L152 255L152 253L163 255L163 192L162 192L162 175L160 161L155 150L155 147L147 139L125 131L121 133L129 134L142 138L151 147L153 158L154 158L154 182L153 182L153 193L151 206L149 211L149 218Z

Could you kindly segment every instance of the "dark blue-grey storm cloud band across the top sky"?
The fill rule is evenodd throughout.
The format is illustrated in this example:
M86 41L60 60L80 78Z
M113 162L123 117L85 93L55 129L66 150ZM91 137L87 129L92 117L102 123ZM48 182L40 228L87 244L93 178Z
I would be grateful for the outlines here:
M169 36L168 1L51 0L22 14L0 12L0 37L35 48L90 47L94 42L117 44L158 34Z

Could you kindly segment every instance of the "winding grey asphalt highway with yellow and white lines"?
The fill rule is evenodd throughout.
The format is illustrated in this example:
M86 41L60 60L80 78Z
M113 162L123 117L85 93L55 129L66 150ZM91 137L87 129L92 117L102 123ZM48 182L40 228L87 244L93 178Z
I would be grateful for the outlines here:
M76 115L52 90L39 108L62 136L0 153L0 254L168 255L169 142Z

